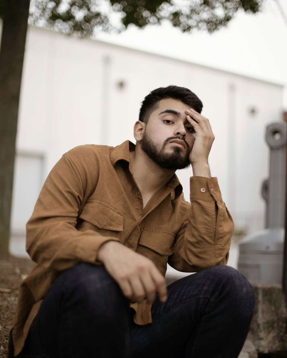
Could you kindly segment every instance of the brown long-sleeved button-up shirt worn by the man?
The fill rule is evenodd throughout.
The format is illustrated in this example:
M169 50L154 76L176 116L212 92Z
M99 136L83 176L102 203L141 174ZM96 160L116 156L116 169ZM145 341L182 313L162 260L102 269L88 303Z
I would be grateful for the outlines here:
M22 282L9 357L18 355L43 298L61 271L94 265L100 246L117 240L150 258L165 275L225 265L233 222L216 178L192 176L190 203L176 175L143 208L133 178L129 141L84 145L64 154L41 190L27 223L26 249L35 266ZM151 304L131 304L137 324L151 323Z

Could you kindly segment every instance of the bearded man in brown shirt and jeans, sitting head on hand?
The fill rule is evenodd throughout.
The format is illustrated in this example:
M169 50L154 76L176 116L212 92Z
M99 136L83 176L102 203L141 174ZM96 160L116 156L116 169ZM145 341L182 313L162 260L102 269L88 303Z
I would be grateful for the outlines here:
M80 146L58 161L27 223L36 264L19 291L11 357L13 343L27 357L239 355L254 294L225 266L233 223L201 110L189 89L157 88L136 145ZM190 164L191 204L174 174ZM166 289L167 263L197 273Z

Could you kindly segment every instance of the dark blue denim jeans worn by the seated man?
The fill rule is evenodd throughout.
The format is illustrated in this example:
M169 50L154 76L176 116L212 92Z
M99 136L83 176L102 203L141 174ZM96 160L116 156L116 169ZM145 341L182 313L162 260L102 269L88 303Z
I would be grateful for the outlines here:
M26 340L27 357L237 358L254 311L251 285L215 266L168 286L152 304L152 323L133 310L103 266L79 263L56 279Z

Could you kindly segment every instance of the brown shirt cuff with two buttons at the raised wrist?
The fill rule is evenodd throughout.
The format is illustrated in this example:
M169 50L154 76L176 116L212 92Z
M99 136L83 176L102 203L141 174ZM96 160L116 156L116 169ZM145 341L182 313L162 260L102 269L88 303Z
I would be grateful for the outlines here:
M190 200L222 201L216 177L191 176L189 184Z

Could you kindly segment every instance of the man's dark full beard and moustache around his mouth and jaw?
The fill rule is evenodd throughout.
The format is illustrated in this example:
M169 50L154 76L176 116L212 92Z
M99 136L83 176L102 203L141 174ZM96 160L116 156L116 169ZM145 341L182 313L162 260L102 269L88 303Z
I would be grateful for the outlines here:
M170 140L180 139L183 140L185 145L187 146L186 153L183 154L183 149L180 147L174 147L172 153L166 153L164 151L165 146L168 144ZM152 141L150 136L144 132L141 140L141 149L152 159L157 165L159 165L163 169L169 170L177 170L188 168L190 165L189 162L189 145L184 138L180 136L169 137L164 141L163 147L158 150L156 148L155 143Z

